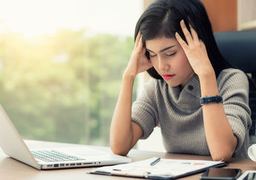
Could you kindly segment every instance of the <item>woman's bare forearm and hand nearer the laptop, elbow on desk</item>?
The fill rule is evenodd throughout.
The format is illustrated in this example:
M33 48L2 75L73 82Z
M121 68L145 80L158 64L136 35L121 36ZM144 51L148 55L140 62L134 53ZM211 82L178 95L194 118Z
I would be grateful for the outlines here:
M135 77L152 67L145 55L146 49L143 48L141 39L139 32L132 56L123 74L121 91L110 127L110 147L112 152L118 155L127 155L143 135L141 126L132 122L132 88Z

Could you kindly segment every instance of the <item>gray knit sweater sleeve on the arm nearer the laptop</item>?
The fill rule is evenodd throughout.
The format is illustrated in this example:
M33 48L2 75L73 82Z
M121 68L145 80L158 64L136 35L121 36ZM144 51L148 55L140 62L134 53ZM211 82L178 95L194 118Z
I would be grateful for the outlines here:
M149 137L157 125L156 116L156 80L150 80L145 84L141 95L132 103L132 121L138 123L143 130L141 139Z

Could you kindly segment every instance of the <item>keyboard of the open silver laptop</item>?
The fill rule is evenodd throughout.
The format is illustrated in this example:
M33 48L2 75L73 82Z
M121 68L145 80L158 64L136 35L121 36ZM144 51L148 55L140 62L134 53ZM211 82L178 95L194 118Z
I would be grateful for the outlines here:
M85 160L85 158L79 158L75 155L67 155L63 152L57 150L34 150L31 151L34 158L46 162L54 161L80 161Z

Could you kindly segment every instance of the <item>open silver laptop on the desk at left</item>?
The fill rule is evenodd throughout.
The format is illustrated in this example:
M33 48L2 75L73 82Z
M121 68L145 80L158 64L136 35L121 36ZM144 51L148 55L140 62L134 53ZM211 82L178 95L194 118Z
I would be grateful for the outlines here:
M0 147L6 155L38 170L94 167L124 164L132 161L131 158L94 150L81 145L77 145L77 147L29 150L1 105Z

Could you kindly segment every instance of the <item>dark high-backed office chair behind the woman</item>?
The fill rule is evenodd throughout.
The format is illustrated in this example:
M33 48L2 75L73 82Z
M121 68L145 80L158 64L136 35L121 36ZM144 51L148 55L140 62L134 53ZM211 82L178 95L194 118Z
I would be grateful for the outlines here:
M252 126L250 144L256 143L256 30L223 31L214 33L220 53L234 68L244 71L249 78L249 106Z

